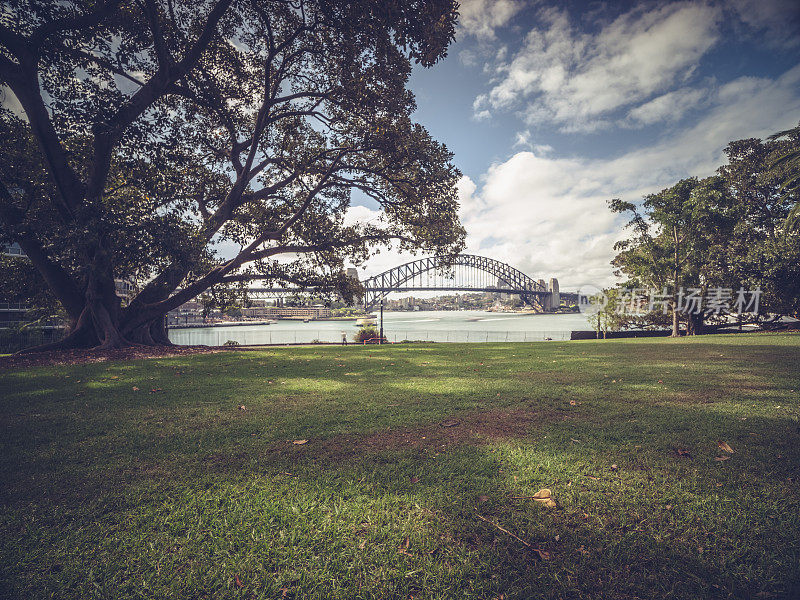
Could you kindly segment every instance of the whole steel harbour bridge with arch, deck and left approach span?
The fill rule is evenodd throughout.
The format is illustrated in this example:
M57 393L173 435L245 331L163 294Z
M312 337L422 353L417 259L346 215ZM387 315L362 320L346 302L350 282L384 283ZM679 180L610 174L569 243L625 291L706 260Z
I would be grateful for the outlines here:
M432 256L399 265L361 281L364 308L372 310L392 292L455 291L516 294L523 302L543 311L558 308L561 300L577 302L577 294L559 292L558 280L533 279L519 269L499 260L474 254L455 257ZM313 288L252 287L252 297L273 297Z

